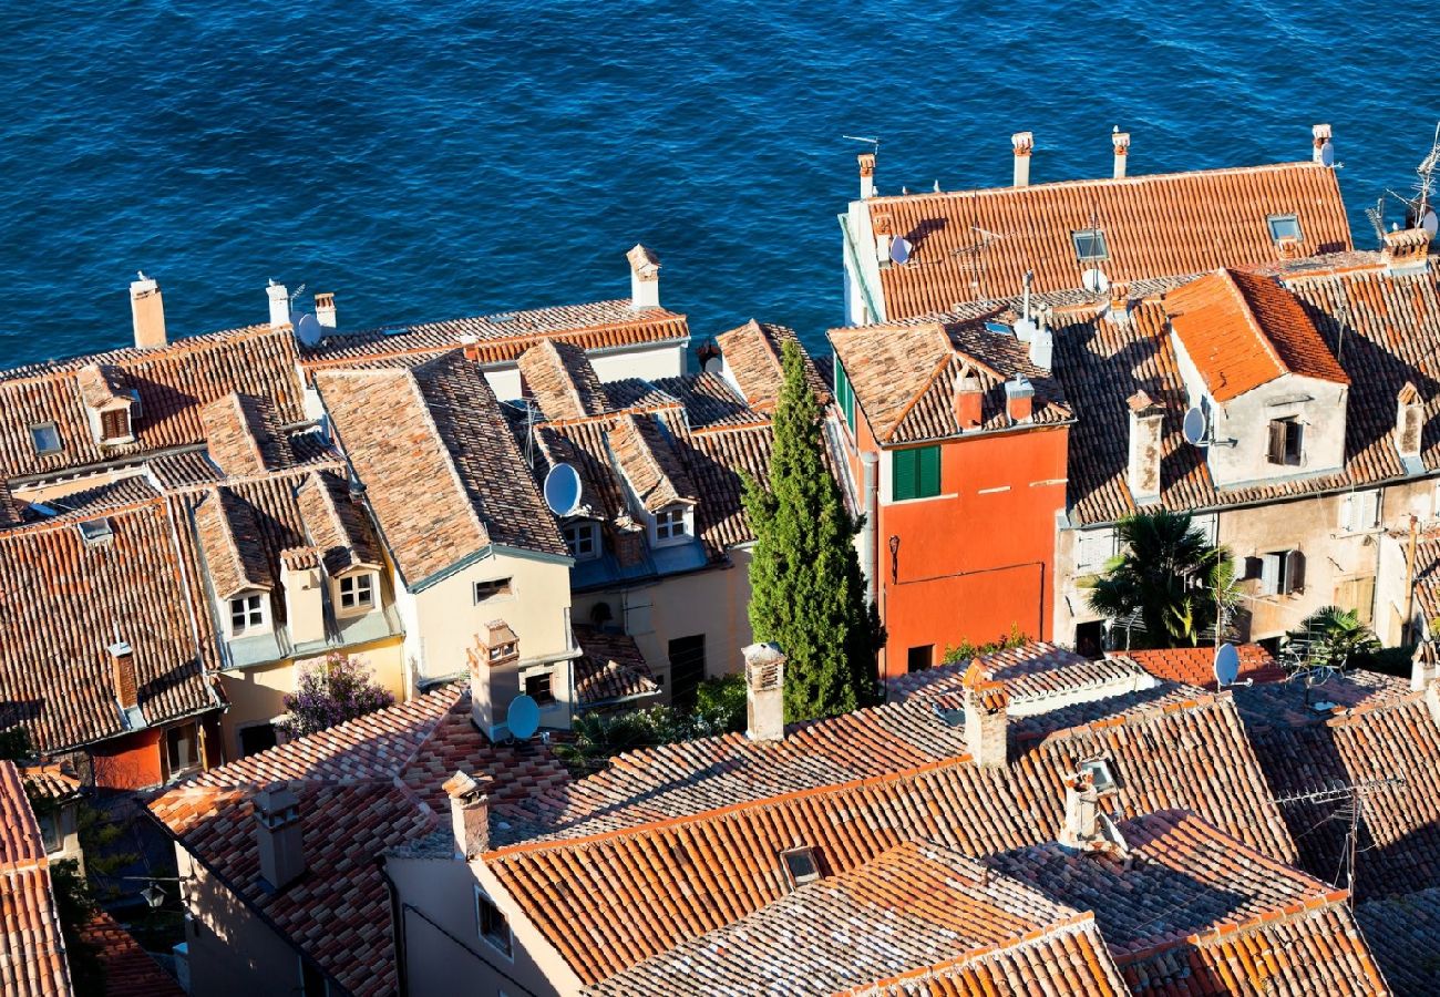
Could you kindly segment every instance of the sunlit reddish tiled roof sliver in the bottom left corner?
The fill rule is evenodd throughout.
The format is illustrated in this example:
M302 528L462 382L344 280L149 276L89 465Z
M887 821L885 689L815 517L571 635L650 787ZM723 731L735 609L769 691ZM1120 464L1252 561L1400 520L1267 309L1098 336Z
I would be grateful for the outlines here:
M71 968L40 824L14 762L0 761L0 990L69 997Z

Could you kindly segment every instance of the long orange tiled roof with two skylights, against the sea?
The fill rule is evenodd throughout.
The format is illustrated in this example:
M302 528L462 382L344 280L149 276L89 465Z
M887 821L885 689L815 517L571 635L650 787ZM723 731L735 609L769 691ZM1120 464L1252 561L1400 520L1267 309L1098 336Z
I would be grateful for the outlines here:
M874 197L865 210L912 245L880 271L890 321L1017 295L1027 271L1044 294L1081 287L1092 267L1136 281L1277 261L1270 215L1296 215L1302 255L1351 248L1335 171L1315 163ZM1081 262L1071 233L1094 228L1109 258Z

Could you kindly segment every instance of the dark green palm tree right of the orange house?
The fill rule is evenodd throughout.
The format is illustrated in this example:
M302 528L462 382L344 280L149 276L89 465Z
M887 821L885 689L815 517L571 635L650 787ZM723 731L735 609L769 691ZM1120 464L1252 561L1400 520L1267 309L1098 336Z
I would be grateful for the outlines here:
M1195 647L1224 625L1240 599L1236 562L1188 514L1136 513L1116 535L1123 552L1084 584L1093 611L1133 627L1135 643L1148 647Z

